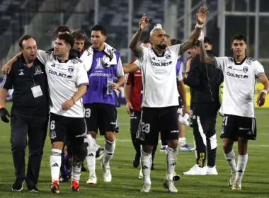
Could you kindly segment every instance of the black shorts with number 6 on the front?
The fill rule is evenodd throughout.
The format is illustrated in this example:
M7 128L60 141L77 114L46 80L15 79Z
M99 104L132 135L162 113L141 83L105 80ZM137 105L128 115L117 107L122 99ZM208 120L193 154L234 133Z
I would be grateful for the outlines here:
M86 124L84 117L64 117L50 113L50 140L69 141L70 145L84 144Z

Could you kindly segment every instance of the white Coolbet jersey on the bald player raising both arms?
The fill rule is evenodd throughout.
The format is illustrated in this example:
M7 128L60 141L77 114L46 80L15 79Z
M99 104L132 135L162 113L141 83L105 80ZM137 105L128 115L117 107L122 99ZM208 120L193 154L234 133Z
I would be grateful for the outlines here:
M137 64L142 69L143 107L169 107L178 105L176 64L180 45L166 47L164 55L155 54L149 47Z

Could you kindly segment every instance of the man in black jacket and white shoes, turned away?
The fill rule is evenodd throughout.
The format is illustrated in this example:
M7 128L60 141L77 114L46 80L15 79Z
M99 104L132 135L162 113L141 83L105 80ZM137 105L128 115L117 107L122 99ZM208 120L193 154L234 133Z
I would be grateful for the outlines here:
M207 42L210 44L210 40ZM216 120L219 110L219 85L223 81L223 74L212 66L200 62L200 43L189 50L192 57L190 71L184 78L184 83L190 86L191 110L193 118L193 135L197 150L196 164L184 175L217 175L215 166L217 139ZM216 56L211 49L209 56ZM217 83L216 83L217 82ZM207 166L205 157L207 153Z

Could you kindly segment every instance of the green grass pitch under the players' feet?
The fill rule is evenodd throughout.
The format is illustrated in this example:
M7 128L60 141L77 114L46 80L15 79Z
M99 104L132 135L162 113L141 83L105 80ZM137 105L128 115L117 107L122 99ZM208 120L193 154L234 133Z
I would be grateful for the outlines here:
M11 103L7 104L10 110ZM15 181L13 161L11 157L10 126L0 122L0 197L269 197L269 110L256 109L258 138L250 141L248 146L248 164L242 181L242 190L234 191L227 187L230 170L224 160L222 141L219 138L222 118L217 120L217 171L219 175L186 176L182 173L195 164L195 152L179 152L176 172L181 180L175 182L177 194L169 194L162 186L166 175L166 156L164 152L156 152L155 168L151 171L152 192L139 192L143 180L138 178L139 168L132 167L132 158L135 150L130 141L130 118L125 105L118 109L120 133L116 137L116 149L113 160L110 162L112 182L103 182L100 161L96 161L97 184L87 185L88 173L81 173L80 192L69 192L69 183L60 184L59 194L51 194L50 186L50 136L47 134L44 154L40 169L38 189L40 192L28 192L23 186L21 192L12 192ZM186 128L188 144L193 146L193 135L190 127ZM103 147L103 136L98 136L98 144ZM237 148L234 146L237 161ZM28 153L28 151L26 151ZM28 156L25 157L28 161Z

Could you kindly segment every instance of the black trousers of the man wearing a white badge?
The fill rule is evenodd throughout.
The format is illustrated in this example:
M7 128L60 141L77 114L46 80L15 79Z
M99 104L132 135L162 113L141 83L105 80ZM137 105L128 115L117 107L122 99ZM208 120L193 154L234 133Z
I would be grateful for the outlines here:
M11 151L15 175L18 179L25 177L25 148L28 144L29 160L26 175L28 186L38 183L48 118L47 108L27 111L11 110Z

